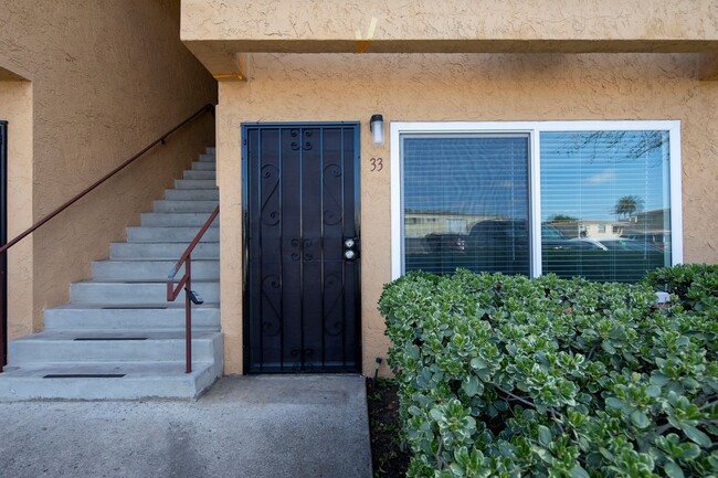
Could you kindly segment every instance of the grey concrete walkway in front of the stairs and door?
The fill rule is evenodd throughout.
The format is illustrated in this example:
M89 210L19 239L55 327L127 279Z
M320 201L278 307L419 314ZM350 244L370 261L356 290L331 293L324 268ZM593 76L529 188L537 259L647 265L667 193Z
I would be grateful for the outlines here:
M356 375L224 378L197 402L0 403L0 477L371 477Z

